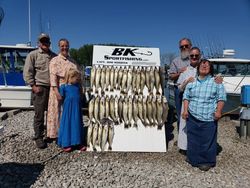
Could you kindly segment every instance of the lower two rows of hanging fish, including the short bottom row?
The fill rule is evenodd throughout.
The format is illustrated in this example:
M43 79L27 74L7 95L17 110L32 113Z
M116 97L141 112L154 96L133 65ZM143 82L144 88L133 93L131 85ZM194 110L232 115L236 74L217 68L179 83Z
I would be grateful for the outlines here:
M145 126L161 129L167 120L168 104L165 96L96 96L89 102L87 145L96 151L112 150L114 125L124 123L125 128L137 127L141 121Z

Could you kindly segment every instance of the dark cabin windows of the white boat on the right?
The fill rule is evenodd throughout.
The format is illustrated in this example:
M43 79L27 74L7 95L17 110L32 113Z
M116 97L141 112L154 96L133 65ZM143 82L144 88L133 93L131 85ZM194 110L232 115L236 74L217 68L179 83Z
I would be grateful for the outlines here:
M223 76L250 76L250 63L213 62L214 73Z

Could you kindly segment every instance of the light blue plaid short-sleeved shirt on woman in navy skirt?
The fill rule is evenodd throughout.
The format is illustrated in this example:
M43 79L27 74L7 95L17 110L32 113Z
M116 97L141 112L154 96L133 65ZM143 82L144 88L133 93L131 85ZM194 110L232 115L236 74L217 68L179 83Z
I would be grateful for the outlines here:
M207 76L186 86L183 100L189 101L188 111L201 121L214 121L218 101L226 101L223 84L216 84L214 78Z

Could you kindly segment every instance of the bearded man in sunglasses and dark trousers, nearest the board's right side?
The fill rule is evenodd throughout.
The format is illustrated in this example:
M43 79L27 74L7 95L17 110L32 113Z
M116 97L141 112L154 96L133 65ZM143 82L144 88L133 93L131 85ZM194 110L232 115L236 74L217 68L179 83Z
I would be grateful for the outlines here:
M191 40L188 38L183 38L179 41L180 48L180 56L176 57L170 64L169 69L169 78L174 81L176 84L180 74L184 72L187 66L190 64L189 62L189 53L192 47ZM181 115L181 104L182 104L182 95L183 93L179 91L177 85L174 87L175 94L175 107L177 113L177 128L179 131L179 122Z

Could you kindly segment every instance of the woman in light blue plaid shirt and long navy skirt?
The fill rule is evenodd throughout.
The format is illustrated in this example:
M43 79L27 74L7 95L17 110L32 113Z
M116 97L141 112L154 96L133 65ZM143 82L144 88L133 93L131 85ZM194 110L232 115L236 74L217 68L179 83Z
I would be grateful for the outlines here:
M216 165L217 121L221 118L226 93L223 84L216 84L213 65L201 60L195 82L186 86L183 119L187 121L187 161L207 171Z

